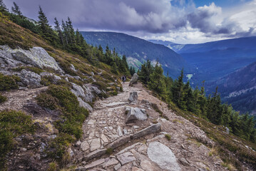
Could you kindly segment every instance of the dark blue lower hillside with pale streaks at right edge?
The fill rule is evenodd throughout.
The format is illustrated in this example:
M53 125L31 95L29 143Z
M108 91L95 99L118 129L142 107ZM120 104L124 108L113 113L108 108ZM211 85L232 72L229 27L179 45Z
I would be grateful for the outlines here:
M256 62L241 68L217 81L206 84L208 92L218 91L223 102L232 104L241 113L256 113Z

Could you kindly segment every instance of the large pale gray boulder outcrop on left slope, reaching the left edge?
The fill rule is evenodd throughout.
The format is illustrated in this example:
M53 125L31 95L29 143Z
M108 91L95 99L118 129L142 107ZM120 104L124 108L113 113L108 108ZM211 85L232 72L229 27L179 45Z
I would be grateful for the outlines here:
M63 73L55 59L49 56L43 48L34 47L29 50L23 50L22 48L12 49L9 46L1 46L0 49L1 58L4 58L4 61L8 61L11 66L16 67L19 61L21 61L22 63L39 68L52 68Z

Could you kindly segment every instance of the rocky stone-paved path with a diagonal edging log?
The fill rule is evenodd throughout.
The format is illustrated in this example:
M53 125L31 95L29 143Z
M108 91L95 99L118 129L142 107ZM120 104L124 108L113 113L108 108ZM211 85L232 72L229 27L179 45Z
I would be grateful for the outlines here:
M172 113L140 83L124 83L123 90L96 102L83 125L83 138L73 149L79 161L76 170L226 170L219 157L209 155L214 149L198 142L214 145L203 130ZM133 103L128 102L130 92L138 93ZM146 120L126 122L128 106L145 110Z

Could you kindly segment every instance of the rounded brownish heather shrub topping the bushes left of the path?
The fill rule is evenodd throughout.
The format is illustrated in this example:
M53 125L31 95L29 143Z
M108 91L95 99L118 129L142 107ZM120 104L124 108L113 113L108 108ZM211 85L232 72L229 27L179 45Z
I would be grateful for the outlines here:
M51 110L58 108L58 99L47 93L40 93L37 95L36 101L44 108L49 108Z

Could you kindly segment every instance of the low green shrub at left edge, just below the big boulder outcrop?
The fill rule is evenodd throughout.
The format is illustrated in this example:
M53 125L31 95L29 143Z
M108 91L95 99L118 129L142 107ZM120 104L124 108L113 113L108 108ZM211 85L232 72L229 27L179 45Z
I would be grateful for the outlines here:
M19 88L16 83L17 81L20 81L18 76L4 76L2 73L0 73L0 90L11 90Z

